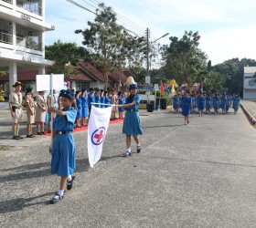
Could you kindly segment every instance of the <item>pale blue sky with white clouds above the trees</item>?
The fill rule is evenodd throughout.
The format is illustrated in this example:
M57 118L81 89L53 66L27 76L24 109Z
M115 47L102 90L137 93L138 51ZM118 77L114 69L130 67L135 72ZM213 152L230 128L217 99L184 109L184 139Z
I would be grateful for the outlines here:
M74 0L95 11L98 3L112 6L118 23L142 35L148 27L154 41L165 33L182 37L185 31L198 31L200 48L212 65L232 57L256 59L255 0ZM76 29L87 27L94 15L65 0L46 0L46 22L55 31L46 33L46 45L55 41L81 45ZM159 40L168 45L166 36Z

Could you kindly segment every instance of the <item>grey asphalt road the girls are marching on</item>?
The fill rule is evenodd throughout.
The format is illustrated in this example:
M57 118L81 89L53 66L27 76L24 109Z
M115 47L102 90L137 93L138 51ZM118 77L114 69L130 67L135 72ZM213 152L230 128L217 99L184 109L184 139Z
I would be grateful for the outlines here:
M141 120L142 152L123 158L123 124L110 125L94 169L87 131L75 133L74 187L54 205L49 137L10 140L2 124L0 227L256 227L256 130L241 110Z

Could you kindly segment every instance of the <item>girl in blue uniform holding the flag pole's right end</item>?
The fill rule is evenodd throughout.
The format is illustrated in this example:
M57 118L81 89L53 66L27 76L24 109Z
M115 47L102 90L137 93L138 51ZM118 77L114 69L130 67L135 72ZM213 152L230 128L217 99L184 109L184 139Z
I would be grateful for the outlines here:
M126 157L132 155L132 136L137 144L137 152L139 153L141 151L139 135L143 134L143 130L141 128L141 120L138 111L141 98L137 95L137 89L137 84L131 84L129 86L130 96L126 98L124 105L119 106L126 110L123 120L123 134L126 134Z

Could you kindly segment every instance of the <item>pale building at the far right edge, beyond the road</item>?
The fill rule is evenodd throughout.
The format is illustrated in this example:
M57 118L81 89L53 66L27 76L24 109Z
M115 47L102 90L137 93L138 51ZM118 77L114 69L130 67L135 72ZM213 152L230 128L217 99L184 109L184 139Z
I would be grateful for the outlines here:
M255 74L256 67L244 67L243 98L256 99L256 81L253 78Z

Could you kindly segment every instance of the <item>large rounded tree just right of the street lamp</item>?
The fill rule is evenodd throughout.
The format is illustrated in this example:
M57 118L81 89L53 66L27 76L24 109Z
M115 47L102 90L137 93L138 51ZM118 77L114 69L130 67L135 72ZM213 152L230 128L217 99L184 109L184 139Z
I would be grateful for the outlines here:
M207 56L199 48L200 36L197 32L185 31L181 39L176 36L169 39L170 45L162 47L165 74L175 78L178 84L195 82L207 66Z

